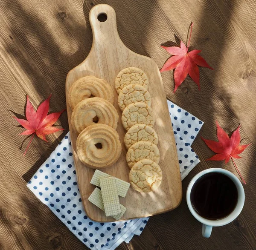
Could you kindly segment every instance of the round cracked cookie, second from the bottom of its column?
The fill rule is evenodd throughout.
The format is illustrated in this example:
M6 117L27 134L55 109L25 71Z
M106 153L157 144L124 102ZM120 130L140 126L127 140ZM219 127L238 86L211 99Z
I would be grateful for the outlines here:
M160 152L158 147L149 141L138 141L133 144L126 153L126 161L129 168L143 159L150 159L155 163L160 161Z

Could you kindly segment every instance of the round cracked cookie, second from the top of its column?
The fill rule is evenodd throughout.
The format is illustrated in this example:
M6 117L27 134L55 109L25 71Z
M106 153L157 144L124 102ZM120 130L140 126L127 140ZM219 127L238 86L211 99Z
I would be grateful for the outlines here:
M118 105L123 111L126 106L135 102L143 102L151 106L151 96L141 85L130 84L125 86L118 95Z

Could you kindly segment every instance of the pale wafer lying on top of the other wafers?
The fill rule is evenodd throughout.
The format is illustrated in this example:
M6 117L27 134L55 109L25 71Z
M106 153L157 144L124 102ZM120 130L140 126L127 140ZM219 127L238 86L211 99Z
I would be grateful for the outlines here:
M121 213L119 197L116 188L116 178L111 176L99 179L106 216Z

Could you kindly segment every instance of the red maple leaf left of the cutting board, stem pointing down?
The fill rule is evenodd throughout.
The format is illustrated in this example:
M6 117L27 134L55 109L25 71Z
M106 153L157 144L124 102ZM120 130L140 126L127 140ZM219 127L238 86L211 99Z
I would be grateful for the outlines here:
M45 138L45 135L49 135L57 131L64 130L57 127L52 127L52 125L55 124L59 116L66 109L61 110L61 112L51 113L47 115L49 112L49 102L51 97L52 95L49 95L49 97L38 106L37 111L35 111L34 107L29 101L29 96L27 95L26 97L27 98L27 103L26 103L26 119L27 120L19 119L13 116L13 118L15 118L20 125L22 125L25 129L27 129L24 132L22 132L20 135L32 135L24 155L26 155L26 152L35 134L42 140L47 141L47 139Z

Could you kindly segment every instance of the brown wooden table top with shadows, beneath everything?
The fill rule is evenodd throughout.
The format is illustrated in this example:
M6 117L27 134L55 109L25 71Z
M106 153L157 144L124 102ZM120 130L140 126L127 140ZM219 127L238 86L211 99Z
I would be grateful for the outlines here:
M216 3L218 2L218 3ZM190 78L173 94L172 72L162 73L166 97L204 121L200 134L216 140L215 120L232 132L241 124L244 144L256 140L256 2L254 0L3 0L0 2L0 249L77 250L87 247L33 195L26 182L55 149L64 133L49 143L17 135L13 114L24 115L25 95L37 106L50 93L50 112L65 107L65 78L87 57L92 44L88 13L108 3L116 10L122 41L134 52L153 58L159 68L168 58L160 44L186 41L193 21L192 48L215 70L200 68L201 91ZM66 113L58 124L68 130ZM21 148L22 147L22 148ZM21 148L21 149L20 149ZM237 159L247 184L244 209L232 223L201 236L201 224L189 213L186 187L201 170L233 164L204 161L213 155L198 136L192 145L198 164L183 181L180 206L149 219L140 237L121 250L256 249L256 146Z

